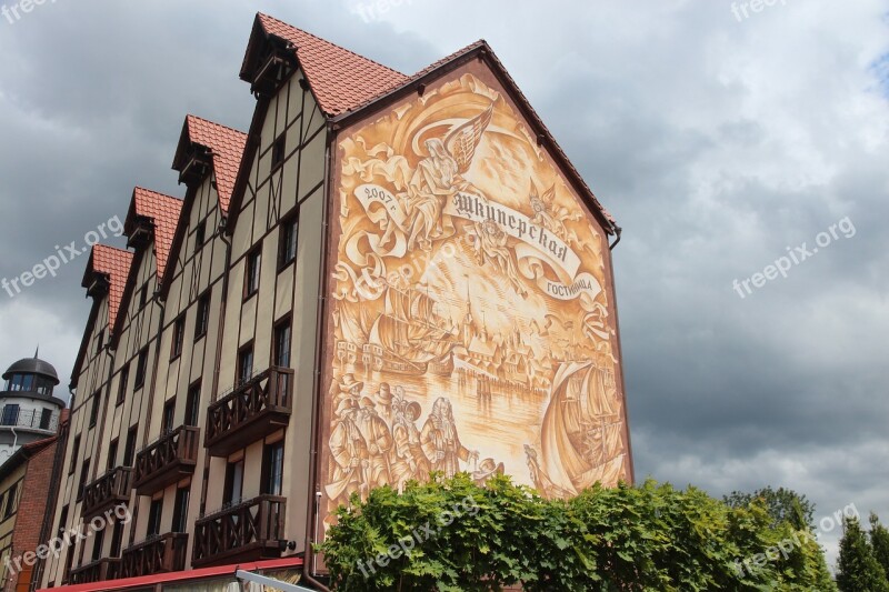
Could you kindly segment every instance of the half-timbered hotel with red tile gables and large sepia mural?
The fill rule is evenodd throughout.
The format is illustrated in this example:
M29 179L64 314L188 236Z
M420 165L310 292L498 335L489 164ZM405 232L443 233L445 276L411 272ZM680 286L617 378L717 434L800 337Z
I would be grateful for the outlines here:
M91 253L53 524L126 516L42 585L250 563L321 588L311 543L352 492L488 465L546 495L632 480L619 229L491 48L406 76L258 14L240 78L250 129L188 116L183 199L137 188L129 249Z

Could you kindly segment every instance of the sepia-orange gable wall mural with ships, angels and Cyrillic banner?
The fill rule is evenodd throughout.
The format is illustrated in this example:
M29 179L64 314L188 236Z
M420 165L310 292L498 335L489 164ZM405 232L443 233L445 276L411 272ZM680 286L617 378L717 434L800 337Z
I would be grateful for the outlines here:
M481 64L336 144L322 456L352 492L631 479L605 232Z

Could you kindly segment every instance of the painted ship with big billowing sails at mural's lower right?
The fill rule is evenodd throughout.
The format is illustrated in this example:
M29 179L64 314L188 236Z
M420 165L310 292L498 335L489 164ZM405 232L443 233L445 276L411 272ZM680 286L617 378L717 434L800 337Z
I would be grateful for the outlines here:
M540 470L563 496L597 481L613 485L623 474L623 423L610 369L591 361L567 362L552 381L540 433Z

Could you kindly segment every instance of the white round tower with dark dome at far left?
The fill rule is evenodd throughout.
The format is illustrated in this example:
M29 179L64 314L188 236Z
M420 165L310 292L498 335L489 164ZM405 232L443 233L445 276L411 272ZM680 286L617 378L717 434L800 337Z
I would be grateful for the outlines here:
M59 377L52 364L19 360L3 372L0 391L0 465L24 444L56 434L64 401L53 395Z

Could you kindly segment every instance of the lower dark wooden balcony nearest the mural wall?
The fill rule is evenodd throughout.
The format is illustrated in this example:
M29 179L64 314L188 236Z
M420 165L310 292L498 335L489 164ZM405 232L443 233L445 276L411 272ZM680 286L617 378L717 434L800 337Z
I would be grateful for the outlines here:
M260 495L199 519L192 565L280 558L286 514L287 498Z

